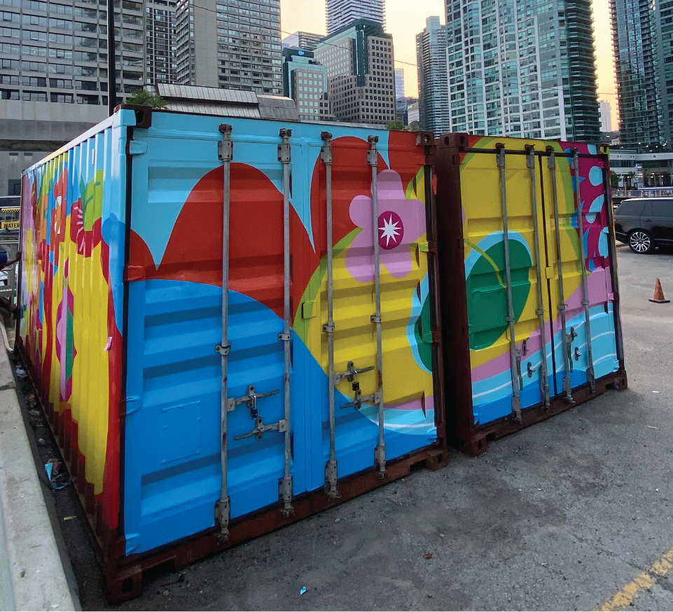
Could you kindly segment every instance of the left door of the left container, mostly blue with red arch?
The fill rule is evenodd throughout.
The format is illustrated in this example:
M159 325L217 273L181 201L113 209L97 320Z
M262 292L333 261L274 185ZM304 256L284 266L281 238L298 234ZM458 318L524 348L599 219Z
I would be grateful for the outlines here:
M128 271L127 554L216 522L222 491L222 357L216 347L222 342L225 188L218 123L155 113L153 126L136 130L132 144L137 154ZM289 430L292 444L286 440L286 376L300 402L303 383L285 358L289 181L279 160L278 130L277 123L239 121L232 133L225 456L233 520L282 504L279 485L288 465L291 475L299 474L296 490L305 486L303 452L286 453L286 445L300 451L305 445L303 408ZM303 265L300 249L291 265Z

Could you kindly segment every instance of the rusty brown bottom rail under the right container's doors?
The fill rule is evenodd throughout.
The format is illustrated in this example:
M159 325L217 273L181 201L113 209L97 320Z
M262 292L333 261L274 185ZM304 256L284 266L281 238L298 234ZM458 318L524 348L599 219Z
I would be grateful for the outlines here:
M513 417L506 417L499 421L492 422L480 429L465 428L452 436L450 442L458 450L468 454L470 457L478 457L484 454L487 449L488 440L498 440L510 433L516 433L526 427L540 423L559 415L561 412L571 410L576 406L588 402L599 395L604 394L608 389L623 391L628 388L628 379L625 370L619 370L611 375L599 378L596 381L595 391L591 391L588 384L574 390L574 401L567 401L562 396L553 398L550 407L545 410L542 405L525 408L521 411L521 420L517 421Z

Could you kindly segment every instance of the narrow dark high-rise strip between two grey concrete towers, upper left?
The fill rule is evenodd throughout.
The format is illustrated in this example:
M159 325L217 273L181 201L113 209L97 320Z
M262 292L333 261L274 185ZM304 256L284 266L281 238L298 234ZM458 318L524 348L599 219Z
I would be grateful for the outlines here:
M175 83L176 0L145 0L146 83Z

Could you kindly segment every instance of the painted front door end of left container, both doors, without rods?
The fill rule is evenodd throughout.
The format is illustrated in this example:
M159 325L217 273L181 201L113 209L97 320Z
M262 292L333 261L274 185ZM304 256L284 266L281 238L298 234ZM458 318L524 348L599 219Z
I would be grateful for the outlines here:
M214 527L220 496L220 356L223 170L218 118L153 113L136 130L132 174L125 456L127 554ZM230 342L228 396L258 401L265 424L283 418L283 186L279 123L230 119ZM321 130L290 124L291 432L293 494L321 489L329 457L325 168ZM378 143L382 246L385 443L394 459L435 443L424 206L424 160L415 134L333 126L334 321L336 372L376 364L368 136ZM391 221L392 219L392 221ZM396 232L398 228L398 233ZM389 249L386 248L389 246ZM425 321L424 321L425 319ZM423 333L423 332L426 333ZM377 390L376 368L359 376ZM377 410L352 406L338 384L339 478L371 468ZM232 519L278 501L284 436L254 429L245 404L229 416Z

